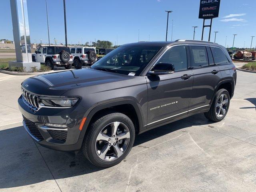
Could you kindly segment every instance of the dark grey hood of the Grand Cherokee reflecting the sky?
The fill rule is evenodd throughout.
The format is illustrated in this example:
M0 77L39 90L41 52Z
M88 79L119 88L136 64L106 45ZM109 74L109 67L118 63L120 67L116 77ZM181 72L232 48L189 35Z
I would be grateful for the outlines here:
M83 68L33 76L22 82L22 87L37 95L60 96L71 89L122 81L132 77Z

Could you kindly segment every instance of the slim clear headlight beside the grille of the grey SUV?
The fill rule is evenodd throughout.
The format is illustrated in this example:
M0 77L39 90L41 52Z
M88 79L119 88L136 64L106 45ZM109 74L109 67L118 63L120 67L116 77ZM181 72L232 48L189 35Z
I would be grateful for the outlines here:
M79 98L40 98L39 107L72 107L78 100Z

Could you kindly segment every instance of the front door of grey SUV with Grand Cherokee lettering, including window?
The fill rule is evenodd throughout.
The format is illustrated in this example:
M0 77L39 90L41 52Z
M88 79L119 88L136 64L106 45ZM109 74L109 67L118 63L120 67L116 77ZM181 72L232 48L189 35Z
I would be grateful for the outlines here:
M146 76L148 84L148 127L188 113L192 93L192 70L188 69L188 47L169 48L156 62L174 65L174 73Z

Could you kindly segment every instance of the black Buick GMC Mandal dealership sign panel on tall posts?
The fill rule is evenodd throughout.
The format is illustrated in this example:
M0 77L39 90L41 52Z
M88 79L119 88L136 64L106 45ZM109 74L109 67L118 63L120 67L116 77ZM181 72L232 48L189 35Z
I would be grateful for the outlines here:
M212 19L219 16L220 0L200 0L199 19Z

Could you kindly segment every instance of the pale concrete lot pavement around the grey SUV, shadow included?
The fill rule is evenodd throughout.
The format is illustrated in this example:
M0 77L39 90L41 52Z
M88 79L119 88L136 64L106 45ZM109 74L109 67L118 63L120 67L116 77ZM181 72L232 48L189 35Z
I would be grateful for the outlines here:
M35 144L17 106L28 76L0 74L0 191L255 191L256 74L237 73L223 121L197 114L140 134L128 157L106 169Z

